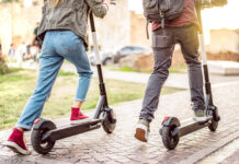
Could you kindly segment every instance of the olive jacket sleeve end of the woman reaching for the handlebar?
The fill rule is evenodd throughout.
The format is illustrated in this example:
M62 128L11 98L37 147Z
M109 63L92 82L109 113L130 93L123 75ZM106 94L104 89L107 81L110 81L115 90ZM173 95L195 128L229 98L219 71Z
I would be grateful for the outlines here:
M104 17L107 13L107 4L104 4L102 0L86 0L94 15L98 17Z

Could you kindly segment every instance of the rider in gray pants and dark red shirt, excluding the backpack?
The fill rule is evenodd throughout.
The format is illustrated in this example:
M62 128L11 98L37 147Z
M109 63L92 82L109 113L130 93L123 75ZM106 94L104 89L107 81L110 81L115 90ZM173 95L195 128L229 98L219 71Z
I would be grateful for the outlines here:
M203 73L201 61L198 60L197 31L198 23L195 15L194 0L184 0L182 14L171 23L166 24L164 28L161 28L160 23L152 23L153 72L149 78L145 92L143 108L135 133L136 139L144 142L148 141L149 124L153 119L153 113L158 108L162 85L169 75L175 44L180 45L189 68L191 101L195 114L194 119L196 121L206 120Z

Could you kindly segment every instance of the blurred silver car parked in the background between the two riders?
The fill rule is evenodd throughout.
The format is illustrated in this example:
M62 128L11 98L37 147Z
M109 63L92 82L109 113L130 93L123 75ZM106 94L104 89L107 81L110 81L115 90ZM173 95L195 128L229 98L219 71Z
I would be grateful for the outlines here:
M107 50L101 52L101 62L102 65L113 65L117 63L122 58L129 55L141 55L141 54L150 54L151 49L148 47L141 46L124 46L116 50ZM94 54L90 55L91 65L95 65Z

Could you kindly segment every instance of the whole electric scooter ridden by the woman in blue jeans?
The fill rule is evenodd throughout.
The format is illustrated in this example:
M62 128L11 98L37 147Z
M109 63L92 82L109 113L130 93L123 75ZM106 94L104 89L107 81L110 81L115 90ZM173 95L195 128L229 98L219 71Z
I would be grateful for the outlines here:
M98 63L96 69L100 86L100 98L96 105L95 114L93 116L93 119L82 120L82 122L78 125L68 125L58 128L52 120L44 118L36 119L34 121L31 141L33 149L39 154L48 153L54 148L54 144L57 140L99 129L101 128L101 126L107 133L112 133L115 129L116 116L114 110L109 106L107 102L92 11L90 11L90 25L94 45L95 59Z

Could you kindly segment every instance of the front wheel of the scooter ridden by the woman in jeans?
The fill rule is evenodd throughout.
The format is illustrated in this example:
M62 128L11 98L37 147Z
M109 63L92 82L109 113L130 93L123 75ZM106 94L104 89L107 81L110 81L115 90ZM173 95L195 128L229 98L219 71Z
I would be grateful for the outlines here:
M105 119L102 122L103 129L107 133L112 133L116 127L116 115L113 109L104 112Z

